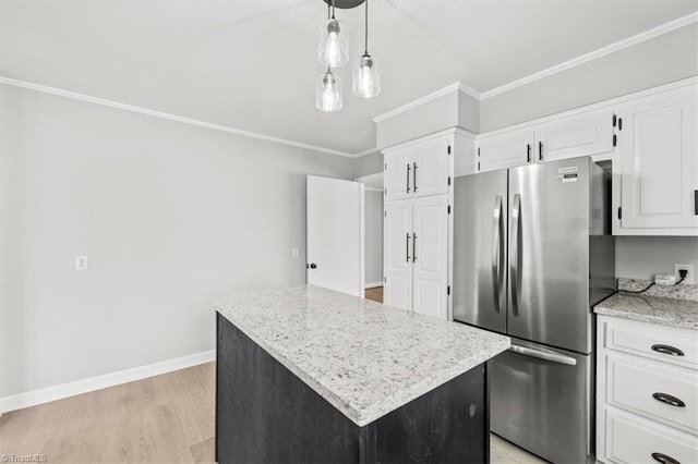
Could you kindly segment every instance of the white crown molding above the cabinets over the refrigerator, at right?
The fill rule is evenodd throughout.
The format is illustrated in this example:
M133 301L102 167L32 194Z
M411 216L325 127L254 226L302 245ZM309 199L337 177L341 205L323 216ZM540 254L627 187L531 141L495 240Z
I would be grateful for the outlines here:
M646 30L643 33L637 34L633 37L628 37L626 39L616 41L615 44L611 44L606 47L602 47L598 50L591 51L589 53L581 54L577 58L573 58L571 60L562 62L554 66L547 68L546 70L539 71L529 76L513 81L508 84L504 84L500 87L493 88L491 90L483 91L480 95L480 101L486 100L488 98L492 98L494 96L504 94L506 91L513 90L515 88L521 87L526 84L533 83L535 81L540 81L544 77L552 76L557 73L562 73L563 71L570 70L573 68L579 66L581 64L588 63L593 60L598 60L599 58L603 58L607 54L614 53L616 51L624 50L626 48L633 47L635 45L641 44L643 41L650 40L654 37L659 37L661 35L671 33L673 30L679 29L682 27L688 26L698 22L698 12L694 12L687 14L686 16L682 16L677 20L671 21L669 23L659 25L654 28Z

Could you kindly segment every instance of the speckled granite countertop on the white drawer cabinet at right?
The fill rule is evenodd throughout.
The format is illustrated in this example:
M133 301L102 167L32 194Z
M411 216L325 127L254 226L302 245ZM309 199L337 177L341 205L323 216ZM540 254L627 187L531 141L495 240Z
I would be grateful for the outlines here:
M698 330L698 302L618 292L594 306L593 312L662 326Z

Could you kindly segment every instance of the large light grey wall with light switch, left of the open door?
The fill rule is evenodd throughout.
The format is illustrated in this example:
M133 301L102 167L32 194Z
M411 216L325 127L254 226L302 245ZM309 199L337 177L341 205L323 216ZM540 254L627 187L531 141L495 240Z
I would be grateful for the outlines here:
M212 350L209 295L305 281L305 174L354 176L347 158L0 89L0 396Z

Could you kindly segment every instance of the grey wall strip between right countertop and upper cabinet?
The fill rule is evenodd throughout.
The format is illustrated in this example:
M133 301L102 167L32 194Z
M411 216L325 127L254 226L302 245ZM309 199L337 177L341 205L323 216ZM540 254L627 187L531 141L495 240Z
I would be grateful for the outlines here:
M618 236L615 260L615 274L628 279L652 280L658 273L674 273L674 265L694 265L698 270L698 237Z

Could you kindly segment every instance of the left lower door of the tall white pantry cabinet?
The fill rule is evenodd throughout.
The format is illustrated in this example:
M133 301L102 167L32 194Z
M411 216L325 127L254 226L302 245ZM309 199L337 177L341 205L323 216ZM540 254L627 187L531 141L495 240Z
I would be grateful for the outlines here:
M383 227L384 302L412 309L412 200L386 202Z

